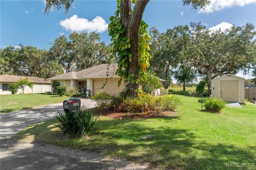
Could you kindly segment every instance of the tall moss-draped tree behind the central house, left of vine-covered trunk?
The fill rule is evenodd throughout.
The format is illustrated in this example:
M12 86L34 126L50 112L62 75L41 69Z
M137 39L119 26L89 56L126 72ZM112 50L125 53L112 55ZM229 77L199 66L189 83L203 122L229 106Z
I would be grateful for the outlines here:
M58 60L66 73L106 63L110 56L110 49L104 42L100 43L100 35L94 32L72 32L69 38L62 35L51 45L52 59Z

